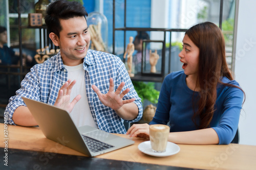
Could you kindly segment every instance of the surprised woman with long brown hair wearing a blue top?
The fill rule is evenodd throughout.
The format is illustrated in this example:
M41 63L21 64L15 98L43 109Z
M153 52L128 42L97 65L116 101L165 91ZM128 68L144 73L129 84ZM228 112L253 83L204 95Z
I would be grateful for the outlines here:
M188 29L179 57L184 71L165 77L150 125L169 122L168 141L174 143L230 143L244 92L228 69L220 28L204 22ZM149 137L149 125L133 125L126 134Z

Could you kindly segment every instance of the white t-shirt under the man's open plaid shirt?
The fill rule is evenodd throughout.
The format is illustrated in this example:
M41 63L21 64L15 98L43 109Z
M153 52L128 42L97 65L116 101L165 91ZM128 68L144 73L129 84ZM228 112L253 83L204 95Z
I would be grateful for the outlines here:
M82 96L82 98L76 103L72 112L70 113L71 118L73 119L77 127L89 125L97 128L86 95L86 82L84 78L85 73L83 65L64 65L64 67L68 70L68 79L71 79L72 81L76 80L76 84L73 86L71 90L70 102L72 102L78 94L81 94Z

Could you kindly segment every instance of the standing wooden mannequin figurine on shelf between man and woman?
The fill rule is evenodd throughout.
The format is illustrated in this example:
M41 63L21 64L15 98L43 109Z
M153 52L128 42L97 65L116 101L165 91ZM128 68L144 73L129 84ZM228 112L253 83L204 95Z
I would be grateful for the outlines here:
M130 43L127 44L126 51L123 55L123 58L125 59L127 54L127 65L129 68L128 72L130 77L134 77L134 74L132 74L133 53L134 53L133 37L130 37Z

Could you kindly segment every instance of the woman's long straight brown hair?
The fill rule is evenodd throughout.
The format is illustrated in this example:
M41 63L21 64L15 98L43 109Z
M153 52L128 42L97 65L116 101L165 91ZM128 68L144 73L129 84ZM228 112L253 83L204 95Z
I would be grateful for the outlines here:
M217 85L220 83L240 87L223 83L220 80L221 77L233 80L233 77L226 62L224 36L218 26L211 22L203 22L191 27L185 34L199 47L197 87L200 87L200 99L193 121L196 124L196 117L199 116L199 129L205 129L209 128L214 115Z

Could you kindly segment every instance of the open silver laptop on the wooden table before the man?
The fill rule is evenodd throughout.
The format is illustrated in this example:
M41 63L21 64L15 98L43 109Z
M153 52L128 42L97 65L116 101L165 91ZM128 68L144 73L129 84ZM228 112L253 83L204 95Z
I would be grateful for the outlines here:
M66 110L22 97L44 135L88 156L97 156L134 143L90 126L77 128Z

